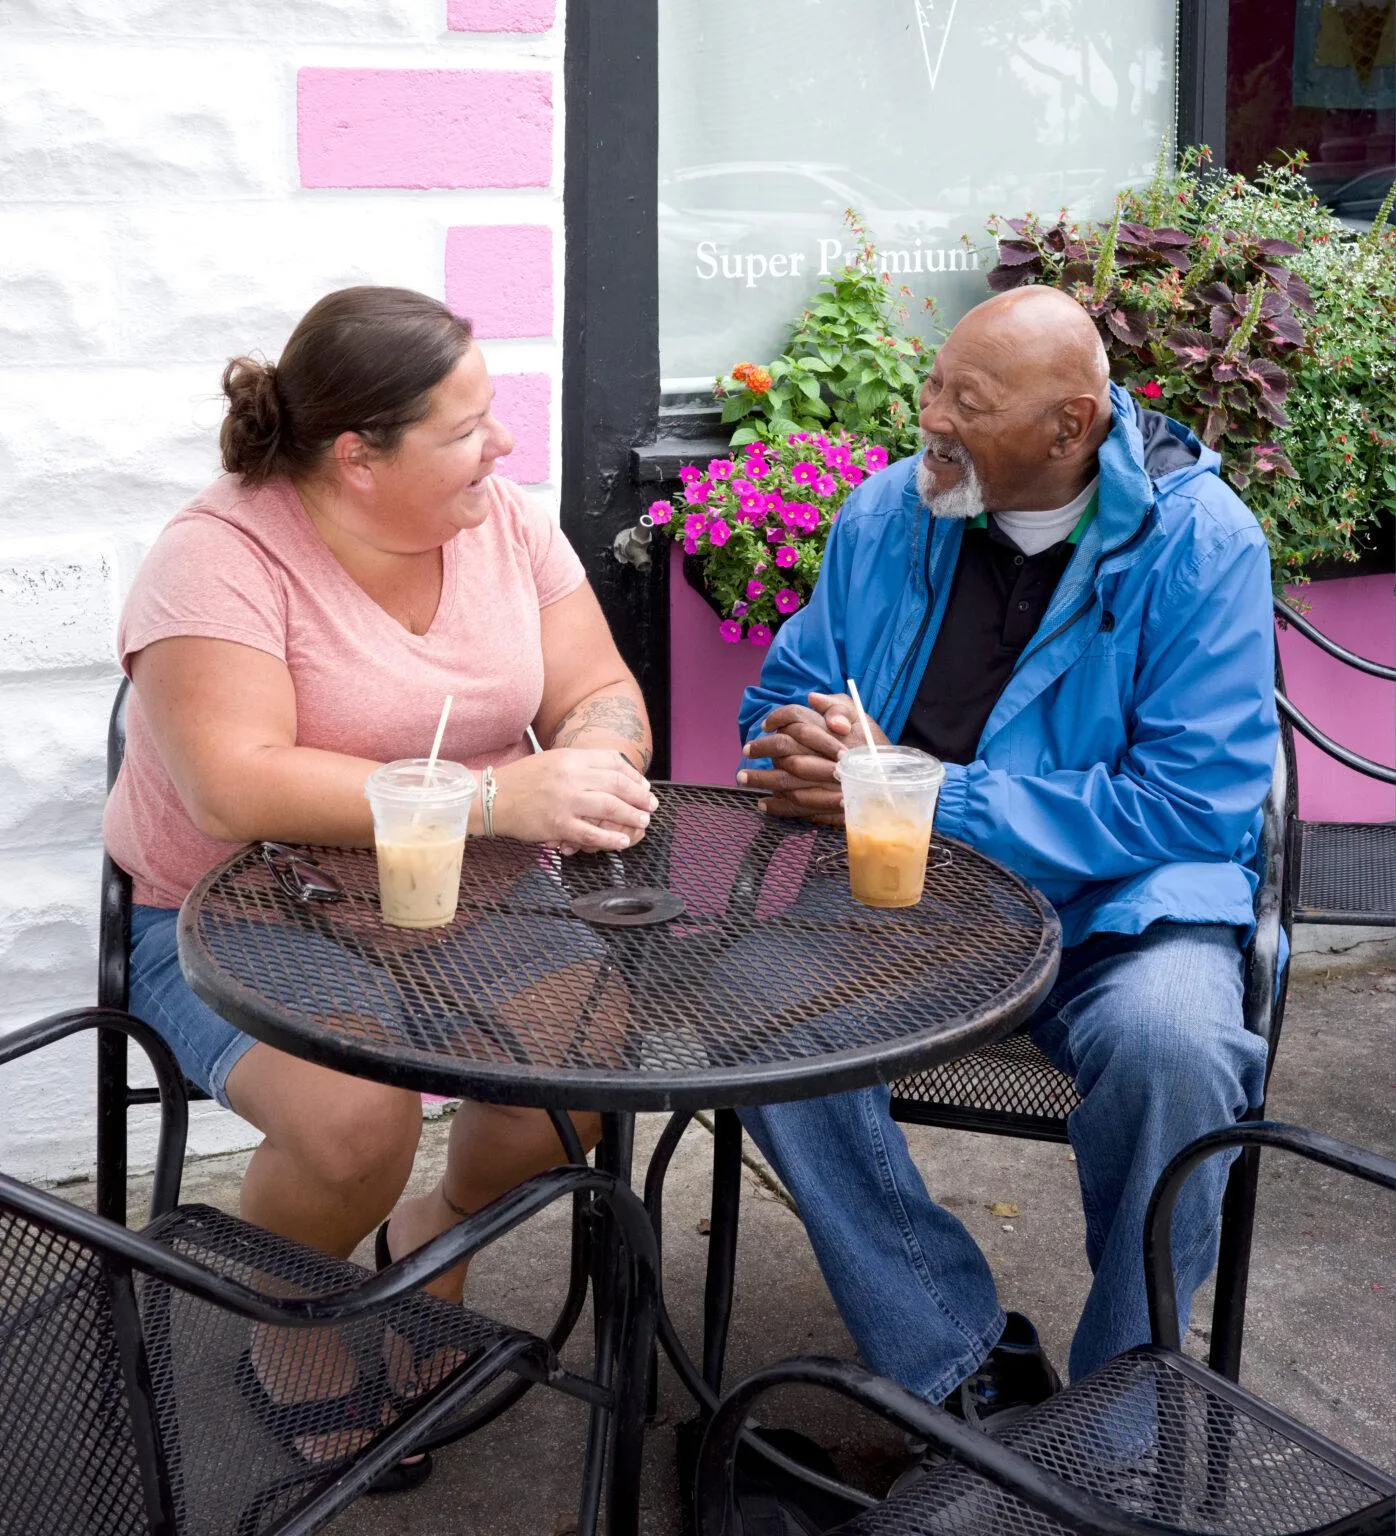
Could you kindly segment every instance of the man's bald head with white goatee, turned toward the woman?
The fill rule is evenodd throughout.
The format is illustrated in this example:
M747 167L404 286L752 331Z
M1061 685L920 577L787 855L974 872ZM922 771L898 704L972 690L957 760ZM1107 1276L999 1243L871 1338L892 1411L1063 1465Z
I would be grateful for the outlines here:
M1060 289L986 300L937 352L920 421L921 485L934 510L1064 505L1095 475L1112 425L1110 367L1095 323Z

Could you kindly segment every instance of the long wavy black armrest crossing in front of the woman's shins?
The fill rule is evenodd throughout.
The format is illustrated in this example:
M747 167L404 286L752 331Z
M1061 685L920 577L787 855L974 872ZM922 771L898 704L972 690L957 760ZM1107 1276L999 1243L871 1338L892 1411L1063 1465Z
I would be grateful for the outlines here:
M350 1322L382 1312L410 1292L419 1290L461 1260L498 1241L530 1217L568 1195L594 1195L607 1203L620 1230L628 1258L627 1281L643 1295L654 1295L659 1253L645 1207L613 1174L591 1167L557 1167L511 1189L475 1215L447 1229L415 1253L370 1275L367 1279L319 1296L284 1296L258 1290L217 1273L183 1253L163 1247L141 1232L108 1221L91 1210L46 1190L0 1175L0 1210L14 1210L37 1226L57 1232L101 1253L123 1267L186 1290L226 1312L283 1327L315 1327ZM634 1292L633 1292L634 1293Z

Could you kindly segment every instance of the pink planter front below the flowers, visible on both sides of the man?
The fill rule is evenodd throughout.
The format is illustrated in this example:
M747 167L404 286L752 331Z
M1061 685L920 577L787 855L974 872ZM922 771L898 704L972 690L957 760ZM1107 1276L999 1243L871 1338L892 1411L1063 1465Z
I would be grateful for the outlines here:
M683 783L731 783L737 705L760 676L763 647L728 645L717 617L683 579L670 548L671 774ZM1353 576L1304 588L1308 617L1339 645L1396 665L1396 578ZM1324 656L1293 630L1279 633L1285 685L1319 730L1378 762L1396 763L1396 688ZM1299 814L1313 822L1396 820L1396 788L1342 768L1298 740Z

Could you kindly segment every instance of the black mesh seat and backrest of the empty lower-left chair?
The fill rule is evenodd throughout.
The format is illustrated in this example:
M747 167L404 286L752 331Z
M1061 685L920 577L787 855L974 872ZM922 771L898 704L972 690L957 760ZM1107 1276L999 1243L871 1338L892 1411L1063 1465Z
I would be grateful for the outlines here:
M144 1236L217 1275L286 1296L342 1292L369 1276L204 1206L161 1217ZM435 1387L510 1339L539 1366L551 1359L542 1341L421 1292L315 1330L258 1329L140 1272L135 1298L181 1536L270 1530L407 1412L416 1369L424 1389ZM0 1508L18 1521L11 1527L0 1518L5 1528L26 1536L147 1530L112 1307L98 1253L0 1213L0 1444L8 1447ZM373 1384L358 1395L362 1430L342 1428L339 1404L301 1401L326 1390L327 1359L336 1361L336 1390L344 1378ZM273 1410L270 1425L266 1404L258 1410L260 1379L295 1404L284 1418Z

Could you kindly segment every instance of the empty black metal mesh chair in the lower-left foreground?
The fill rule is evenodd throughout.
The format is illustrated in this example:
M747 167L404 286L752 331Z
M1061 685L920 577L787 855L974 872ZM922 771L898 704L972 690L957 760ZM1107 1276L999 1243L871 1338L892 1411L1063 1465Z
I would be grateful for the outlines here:
M456 1438L501 1399L544 1382L591 1407L579 1533L594 1536L605 1484L607 1528L636 1536L657 1250L624 1183L585 1166L554 1169L375 1275L209 1207L175 1204L187 1126L181 1078L129 1014L55 1014L0 1040L0 1066L84 1029L135 1040L155 1069L154 1220L129 1232L0 1177L0 1530L318 1530L404 1453ZM565 1370L547 1339L421 1290L564 1197L588 1210L602 1203L619 1236L616 1261L602 1261L616 1349L600 1353L593 1378ZM310 1327L321 1335L316 1350L333 1335L364 1387L352 1436L341 1410L310 1398L306 1356L295 1356L286 1332ZM410 1382L393 1376L401 1356L385 1358L389 1330L410 1341L415 1362L441 1359L442 1379L409 1395ZM286 1375L299 1367L310 1401L286 1385L293 1405L270 1404L253 1349L261 1367L269 1358Z

